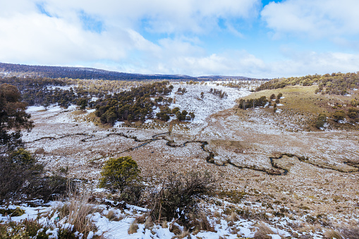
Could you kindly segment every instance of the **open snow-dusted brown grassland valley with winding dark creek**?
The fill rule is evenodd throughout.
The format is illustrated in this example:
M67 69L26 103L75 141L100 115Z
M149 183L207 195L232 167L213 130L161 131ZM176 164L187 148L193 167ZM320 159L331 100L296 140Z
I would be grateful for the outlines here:
M175 92L180 85L174 86ZM171 108L195 111L196 118L173 121L171 133L170 124L160 121L99 127L91 110L54 106L29 109L35 128L23 140L49 171L68 166L72 178L88 185L97 185L109 157L129 155L148 183L159 182L169 171L207 169L221 178L219 196L234 202L227 209L238 214L249 210L253 218L272 220L289 231L308 223L335 227L359 222L356 125L344 125L347 130L311 125L317 114L333 110L327 104L333 96L314 94L315 87L250 94L218 86L229 93L219 99L207 93L208 85L184 87L188 93L176 95ZM205 99L197 99L200 92L206 92ZM278 92L284 99L276 113L235 106L238 97L269 98ZM349 99L336 100L345 104Z

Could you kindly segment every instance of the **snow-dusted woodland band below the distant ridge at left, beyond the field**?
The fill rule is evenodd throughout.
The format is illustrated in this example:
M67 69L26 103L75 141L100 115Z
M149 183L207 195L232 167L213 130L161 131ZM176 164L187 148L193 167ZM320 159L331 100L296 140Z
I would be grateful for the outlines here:
M81 109L93 107L92 97L103 98L107 94L121 92L129 87L146 85L148 82L128 82L119 80L80 80L68 78L0 78L0 83L14 85L29 105L49 106L60 104L67 108L77 104ZM77 86L75 86L77 85ZM68 86L66 88L66 86ZM65 87L65 88L63 88ZM170 86L169 89L173 89Z

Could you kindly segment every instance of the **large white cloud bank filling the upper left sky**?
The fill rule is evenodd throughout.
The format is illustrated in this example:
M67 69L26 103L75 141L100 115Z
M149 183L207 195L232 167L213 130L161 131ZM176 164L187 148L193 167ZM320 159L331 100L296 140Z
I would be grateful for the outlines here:
M260 0L14 0L0 8L0 61L71 65L97 60L120 64L133 52L157 59L203 54L197 33L217 29L217 18L248 18ZM81 16L98 22L90 31ZM145 27L145 28L144 28ZM158 44L140 32L173 33ZM235 29L232 30L235 32ZM141 61L141 59L140 59ZM142 59L143 63L143 59ZM125 64L126 65L126 64Z

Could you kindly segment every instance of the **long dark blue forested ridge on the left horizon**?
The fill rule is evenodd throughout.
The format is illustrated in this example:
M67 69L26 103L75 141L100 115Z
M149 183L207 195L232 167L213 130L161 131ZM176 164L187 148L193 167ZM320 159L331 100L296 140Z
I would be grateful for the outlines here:
M0 75L32 77L32 78L73 78L97 80L221 80L249 79L243 76L210 75L193 77L189 75L133 74L117 71L104 71L95 68L64 66L28 66L20 64L0 63Z

